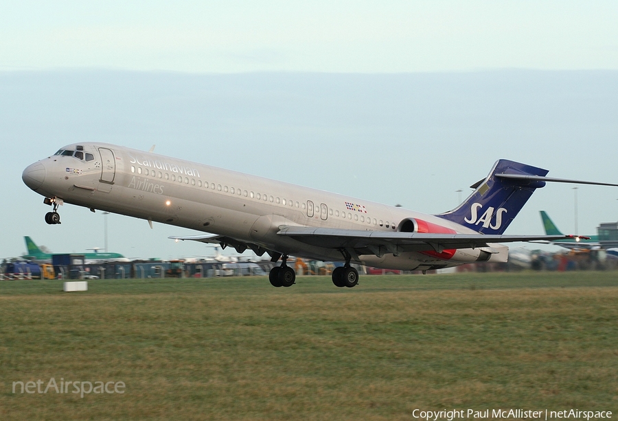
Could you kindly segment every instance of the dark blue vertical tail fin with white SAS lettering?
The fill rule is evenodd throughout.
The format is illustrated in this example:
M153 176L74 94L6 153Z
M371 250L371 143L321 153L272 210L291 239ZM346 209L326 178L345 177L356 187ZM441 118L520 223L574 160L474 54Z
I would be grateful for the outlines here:
M501 159L485 180L472 186L474 193L464 203L436 216L481 234L503 234L532 193L545 186L544 181L526 180L525 176L544 177L548 172L547 169ZM522 178L501 178L501 174Z

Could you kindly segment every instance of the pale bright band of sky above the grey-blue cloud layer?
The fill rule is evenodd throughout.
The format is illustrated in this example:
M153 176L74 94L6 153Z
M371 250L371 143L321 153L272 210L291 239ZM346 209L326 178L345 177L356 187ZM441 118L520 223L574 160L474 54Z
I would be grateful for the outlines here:
M14 1L0 69L616 69L615 1Z

